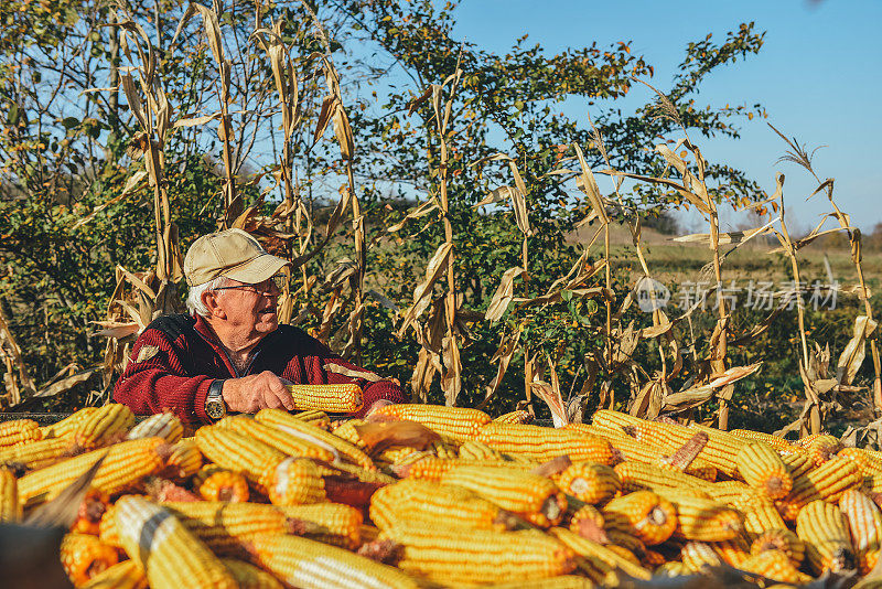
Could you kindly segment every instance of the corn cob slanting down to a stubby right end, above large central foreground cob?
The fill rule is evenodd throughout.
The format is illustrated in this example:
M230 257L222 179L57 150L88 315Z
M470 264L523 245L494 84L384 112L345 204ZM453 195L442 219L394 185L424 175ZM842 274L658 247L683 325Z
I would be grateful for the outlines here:
M567 510L567 500L555 483L517 469L456 467L441 475L441 483L469 489L542 527L557 525Z

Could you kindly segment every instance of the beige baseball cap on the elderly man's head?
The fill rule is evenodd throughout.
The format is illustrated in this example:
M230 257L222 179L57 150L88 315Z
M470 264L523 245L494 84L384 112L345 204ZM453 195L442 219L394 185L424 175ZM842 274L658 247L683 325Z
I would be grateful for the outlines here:
M239 282L262 282L291 264L263 249L254 236L241 229L204 235L193 242L184 257L184 276L191 287L218 276Z

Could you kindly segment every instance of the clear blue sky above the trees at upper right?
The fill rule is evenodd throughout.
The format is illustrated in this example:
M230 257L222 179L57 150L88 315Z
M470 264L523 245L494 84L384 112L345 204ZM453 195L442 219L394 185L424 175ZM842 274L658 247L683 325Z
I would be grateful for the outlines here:
M760 54L711 74L700 104L761 103L786 135L827 146L814 165L821 179L836 179L837 203L864 232L882 223L880 0L464 0L455 17L458 36L493 52L505 52L525 33L549 53L631 40L632 52L655 66L650 82L663 90L689 41L710 32L721 42L741 22L755 21L757 31L766 31ZM784 142L762 119L744 119L740 127L738 141L702 141L704 156L746 170L770 192L775 172L785 173L792 223L805 231L817 224L829 203L820 195L806 202L814 180L795 164L775 163ZM741 222L734 214L723 219Z

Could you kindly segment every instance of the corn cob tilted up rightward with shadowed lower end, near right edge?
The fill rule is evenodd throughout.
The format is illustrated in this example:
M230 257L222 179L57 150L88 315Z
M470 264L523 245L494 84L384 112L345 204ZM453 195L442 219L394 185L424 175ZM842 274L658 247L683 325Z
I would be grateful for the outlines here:
M847 458L833 458L793 481L790 494L778 502L785 520L793 521L802 507L816 500L836 503L849 489L863 483L860 468Z

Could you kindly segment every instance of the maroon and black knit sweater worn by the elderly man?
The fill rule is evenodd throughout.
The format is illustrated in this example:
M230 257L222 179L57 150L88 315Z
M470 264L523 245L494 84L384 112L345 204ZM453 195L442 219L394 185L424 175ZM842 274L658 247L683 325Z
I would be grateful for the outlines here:
M279 325L260 340L248 368L239 374L205 320L186 314L163 315L147 326L114 387L114 398L136 415L170 410L182 421L207 424L212 419L205 415L205 396L213 381L263 371L294 384L358 384L364 406L351 414L354 417L363 416L379 399L406 401L397 384L346 362L292 325Z

